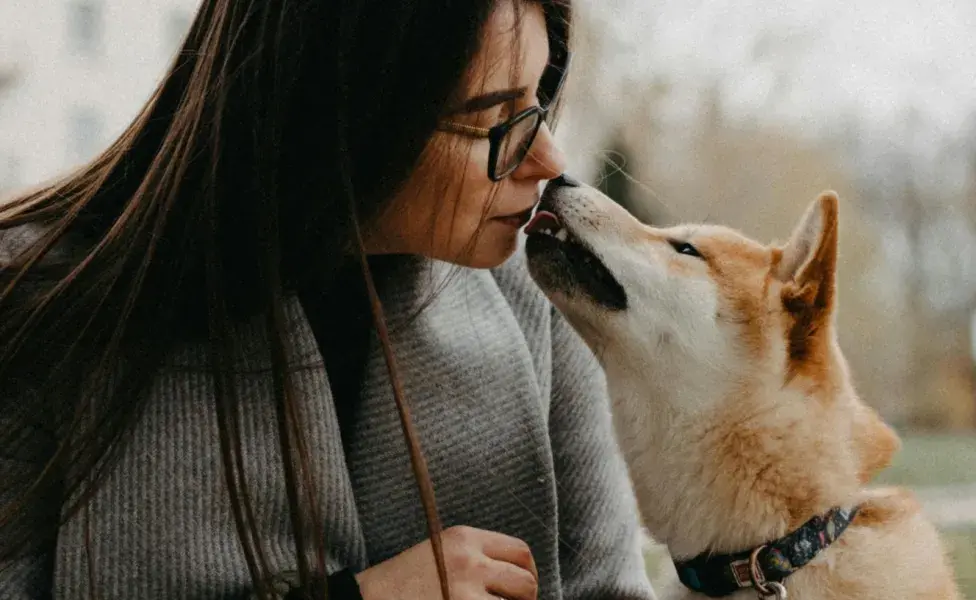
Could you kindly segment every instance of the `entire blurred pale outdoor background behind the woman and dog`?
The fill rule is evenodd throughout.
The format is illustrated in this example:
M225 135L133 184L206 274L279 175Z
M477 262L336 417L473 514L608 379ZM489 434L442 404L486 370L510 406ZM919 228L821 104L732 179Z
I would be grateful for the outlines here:
M976 599L976 1L575 4L576 176L764 241L839 192L841 344L905 441L879 483L916 490ZM0 196L109 144L196 5L0 0ZM652 542L648 566L673 575Z

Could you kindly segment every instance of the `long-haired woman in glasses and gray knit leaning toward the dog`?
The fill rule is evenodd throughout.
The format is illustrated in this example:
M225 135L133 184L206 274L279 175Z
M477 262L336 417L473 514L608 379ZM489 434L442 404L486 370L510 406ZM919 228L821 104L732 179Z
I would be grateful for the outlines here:
M0 597L652 597L517 253L568 25L204 1L120 139L0 213Z

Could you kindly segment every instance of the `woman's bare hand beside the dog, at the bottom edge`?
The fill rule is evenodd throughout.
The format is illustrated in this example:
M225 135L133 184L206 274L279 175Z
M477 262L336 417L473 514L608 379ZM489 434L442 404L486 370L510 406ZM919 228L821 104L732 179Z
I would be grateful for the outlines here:
M522 540L473 527L441 534L451 600L536 600L539 573ZM363 600L438 600L430 540L356 575Z

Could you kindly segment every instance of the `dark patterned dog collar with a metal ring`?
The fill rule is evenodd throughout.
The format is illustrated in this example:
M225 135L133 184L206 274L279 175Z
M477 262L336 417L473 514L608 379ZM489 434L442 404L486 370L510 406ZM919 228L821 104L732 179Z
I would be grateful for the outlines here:
M858 507L832 508L817 515L799 529L779 538L735 554L703 552L686 560L675 561L681 583L692 591L712 598L728 596L744 588L755 587L761 596L773 596L768 590L798 571L830 546L847 529ZM772 586L766 584L772 582Z

